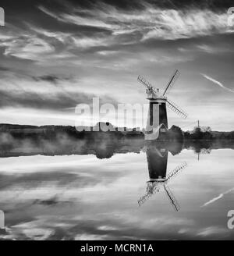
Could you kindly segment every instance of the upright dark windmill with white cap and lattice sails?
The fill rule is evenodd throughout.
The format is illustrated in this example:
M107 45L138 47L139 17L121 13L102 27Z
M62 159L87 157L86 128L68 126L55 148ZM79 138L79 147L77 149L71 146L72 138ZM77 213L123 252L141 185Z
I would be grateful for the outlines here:
M168 100L166 95L175 84L179 76L179 70L176 69L172 77L168 81L163 94L144 79L143 76L138 76L137 80L146 87L147 100L149 100L149 110L147 116L145 140L157 140L160 133L165 133L168 130L167 106L176 114L186 119L186 112L183 112L173 101Z

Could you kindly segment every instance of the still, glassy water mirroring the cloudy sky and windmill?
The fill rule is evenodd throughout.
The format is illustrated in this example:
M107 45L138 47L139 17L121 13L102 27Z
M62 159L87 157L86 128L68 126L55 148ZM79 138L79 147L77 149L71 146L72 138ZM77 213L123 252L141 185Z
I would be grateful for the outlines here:
M234 209L232 149L211 150L199 161L187 149L174 156L154 146L127 151L102 159L91 154L0 158L5 215L0 237L234 238L234 229L227 227L227 214Z

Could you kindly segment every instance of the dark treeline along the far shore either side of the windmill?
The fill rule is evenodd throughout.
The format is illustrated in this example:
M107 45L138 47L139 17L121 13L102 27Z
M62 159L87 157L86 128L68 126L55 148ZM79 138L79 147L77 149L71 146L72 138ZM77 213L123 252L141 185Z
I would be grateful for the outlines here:
M144 133L133 131L108 131L108 132L87 132L77 131L75 126L25 126L0 124L0 133L10 133L15 138L34 138L37 140L54 140L58 134L66 134L73 139L99 140L110 137L120 139L122 137L144 138ZM217 132L211 127L194 127L192 131L183 131L179 126L172 126L168 132L161 133L159 140L183 141L183 140L234 140L234 131Z

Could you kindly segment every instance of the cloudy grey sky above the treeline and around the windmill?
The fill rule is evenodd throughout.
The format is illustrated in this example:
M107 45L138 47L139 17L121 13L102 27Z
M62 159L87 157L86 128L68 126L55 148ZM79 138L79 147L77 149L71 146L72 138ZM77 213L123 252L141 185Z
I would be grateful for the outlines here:
M188 114L234 130L232 1L1 1L0 123L75 125L78 104L147 104L144 76ZM232 22L232 19L231 19ZM234 23L234 19L233 19ZM116 125L114 123L114 125Z

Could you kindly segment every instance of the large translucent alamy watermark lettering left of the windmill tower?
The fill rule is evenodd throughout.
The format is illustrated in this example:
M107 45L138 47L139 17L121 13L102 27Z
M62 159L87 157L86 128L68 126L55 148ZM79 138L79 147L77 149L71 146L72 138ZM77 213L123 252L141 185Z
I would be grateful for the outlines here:
M149 120L148 108L149 104L141 105L139 103L100 105L99 98L93 98L92 105L76 105L76 130L133 131L134 129L137 131L140 130L140 127L146 126L147 131L151 132L157 126L158 113L152 111L151 120Z

